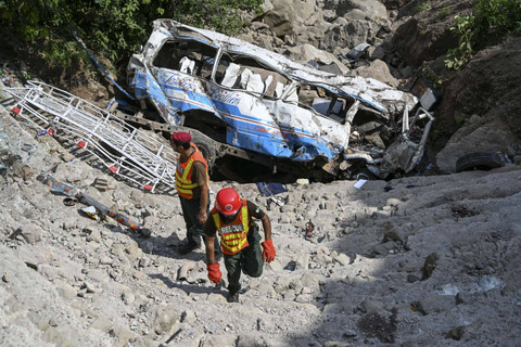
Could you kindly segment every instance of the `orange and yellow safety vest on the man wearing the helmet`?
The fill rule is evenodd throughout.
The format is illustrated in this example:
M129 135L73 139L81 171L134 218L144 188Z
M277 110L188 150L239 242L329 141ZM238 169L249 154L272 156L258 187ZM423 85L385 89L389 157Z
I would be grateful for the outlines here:
M242 198L242 207L233 221L224 224L217 209L212 209L212 218L214 218L215 228L220 235L220 249L224 254L234 255L236 253L247 247L246 240L250 226L247 224L247 207L246 200Z

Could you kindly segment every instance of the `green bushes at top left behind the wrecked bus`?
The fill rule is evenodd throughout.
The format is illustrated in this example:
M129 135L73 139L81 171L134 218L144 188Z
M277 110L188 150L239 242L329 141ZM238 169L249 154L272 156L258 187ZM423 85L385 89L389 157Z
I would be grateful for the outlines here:
M75 30L97 57L126 64L147 41L156 18L233 35L243 23L239 11L258 10L260 0L0 0L3 40L14 50L40 43L51 65L65 66L86 54L74 41Z

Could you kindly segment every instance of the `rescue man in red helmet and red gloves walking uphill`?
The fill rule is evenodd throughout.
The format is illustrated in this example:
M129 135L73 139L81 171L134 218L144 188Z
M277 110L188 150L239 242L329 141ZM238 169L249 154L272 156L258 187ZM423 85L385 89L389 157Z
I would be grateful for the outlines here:
M264 242L260 242L254 219L263 223ZM223 274L214 257L214 240L220 236L220 250L225 256L228 272L228 303L239 301L241 271L252 278L263 274L264 261L271 262L276 252L271 240L271 223L268 216L254 203L241 198L232 188L217 193L215 207L204 228L208 279L218 284ZM262 248L260 248L262 246Z

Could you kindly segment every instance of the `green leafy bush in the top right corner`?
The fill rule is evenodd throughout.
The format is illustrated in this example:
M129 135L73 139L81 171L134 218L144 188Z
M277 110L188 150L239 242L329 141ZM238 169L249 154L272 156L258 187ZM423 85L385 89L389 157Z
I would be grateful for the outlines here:
M459 69L470 61L474 49L491 38L521 33L521 0L480 0L472 14L455 16L450 30L459 44L448 50L445 66Z

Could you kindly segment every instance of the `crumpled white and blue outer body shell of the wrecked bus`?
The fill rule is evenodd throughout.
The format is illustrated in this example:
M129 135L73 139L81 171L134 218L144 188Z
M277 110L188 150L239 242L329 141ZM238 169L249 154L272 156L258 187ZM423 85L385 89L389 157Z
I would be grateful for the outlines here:
M212 78L204 80L176 69L155 67L152 64L154 57L166 42L192 40L204 42L220 53L249 56L293 83L313 83L341 98L358 101L355 113L365 108L382 119L387 119L391 113L412 108L418 102L412 94L374 79L313 69L215 31L171 20L157 20L153 26L143 51L135 54L128 66L128 72L134 75L131 87L138 99L149 98L171 125L181 125L180 114L186 112L198 110L211 113L226 123L226 142L243 150L302 162L317 157L332 160L347 150L351 125L302 107L289 92L278 98L263 98L262 93L255 92L258 85L252 83L251 88L243 90L219 85L214 79L215 68Z

